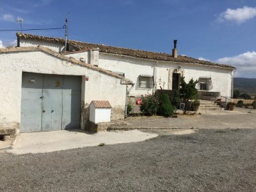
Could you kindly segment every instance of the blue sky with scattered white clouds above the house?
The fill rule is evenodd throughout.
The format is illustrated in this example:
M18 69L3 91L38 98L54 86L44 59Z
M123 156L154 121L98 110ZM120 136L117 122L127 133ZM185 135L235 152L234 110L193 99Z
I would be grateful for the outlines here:
M0 30L58 28L69 39L178 54L230 64L236 77L256 78L255 0L0 0ZM65 38L64 30L26 31ZM0 32L0 47L16 44Z

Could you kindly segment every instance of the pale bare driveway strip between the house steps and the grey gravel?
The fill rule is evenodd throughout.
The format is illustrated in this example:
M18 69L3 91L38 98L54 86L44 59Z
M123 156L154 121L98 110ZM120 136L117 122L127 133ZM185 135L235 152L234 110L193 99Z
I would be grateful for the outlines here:
M111 129L256 129L256 110L201 111L201 114L178 115L178 118L129 117L125 122Z

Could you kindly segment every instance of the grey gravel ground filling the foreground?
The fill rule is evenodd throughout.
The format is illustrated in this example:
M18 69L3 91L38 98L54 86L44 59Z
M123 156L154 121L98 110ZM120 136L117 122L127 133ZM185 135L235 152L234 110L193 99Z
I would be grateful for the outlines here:
M256 129L154 132L132 144L1 151L0 191L256 191Z

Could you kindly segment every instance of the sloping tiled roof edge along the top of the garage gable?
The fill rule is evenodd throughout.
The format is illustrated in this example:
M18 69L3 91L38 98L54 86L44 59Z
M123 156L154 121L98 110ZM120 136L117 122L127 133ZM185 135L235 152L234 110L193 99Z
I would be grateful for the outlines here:
M53 50L51 50L49 48L45 48L43 46L38 46L38 47L18 47L18 48L0 48L0 54L3 54L3 53L31 52L31 51L43 51L45 53L48 53L50 55L55 56L56 58L60 58L62 60L66 60L66 61L68 61L70 63L75 64L75 65L80 65L80 66L85 67L85 68L90 68L91 70L97 70L100 73L105 73L105 74L110 75L110 76L112 76L114 78L119 78L119 79L121 79L121 83L122 84L132 84L131 80L128 80L128 79L124 78L121 75L117 75L116 73L112 73L109 70L105 70L105 69L96 67L94 65L90 65L90 64L87 64L87 63L80 62L79 60L75 60L74 58L68 58L68 57L66 57L64 55L61 55L60 53L57 53L57 52L55 52L55 51L53 51Z

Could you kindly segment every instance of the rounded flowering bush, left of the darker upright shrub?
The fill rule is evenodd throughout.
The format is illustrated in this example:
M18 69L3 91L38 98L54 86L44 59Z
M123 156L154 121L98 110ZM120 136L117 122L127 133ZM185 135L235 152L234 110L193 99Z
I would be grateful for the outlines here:
M153 95L142 96L142 105L139 106L139 110L145 115L156 115L159 107L159 98Z

